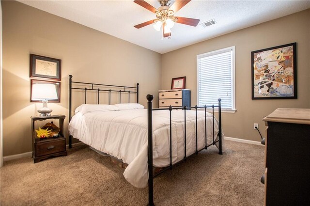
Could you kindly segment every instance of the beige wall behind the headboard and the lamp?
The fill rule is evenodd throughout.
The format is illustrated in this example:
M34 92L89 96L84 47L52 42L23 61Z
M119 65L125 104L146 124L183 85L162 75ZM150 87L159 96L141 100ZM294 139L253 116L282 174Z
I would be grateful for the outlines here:
M68 115L69 74L76 81L139 82L144 106L147 93L160 89L161 54L16 1L2 1L2 9L4 156L31 151L30 116L42 103L30 102L30 53L62 59L61 103L48 103L54 114Z

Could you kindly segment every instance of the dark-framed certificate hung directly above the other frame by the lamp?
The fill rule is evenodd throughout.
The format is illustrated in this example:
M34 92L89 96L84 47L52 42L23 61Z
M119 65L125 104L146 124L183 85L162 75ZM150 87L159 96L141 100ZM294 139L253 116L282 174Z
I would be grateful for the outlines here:
M30 54L30 78L61 80L62 60Z

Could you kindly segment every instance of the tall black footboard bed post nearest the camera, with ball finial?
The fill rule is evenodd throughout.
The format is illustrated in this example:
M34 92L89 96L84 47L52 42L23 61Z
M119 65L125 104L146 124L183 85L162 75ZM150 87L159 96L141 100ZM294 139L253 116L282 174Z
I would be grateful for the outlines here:
M152 122L152 100L154 96L152 94L146 95L147 103L147 151L148 151L148 171L149 171L149 204L148 206L154 206L153 196L153 122Z

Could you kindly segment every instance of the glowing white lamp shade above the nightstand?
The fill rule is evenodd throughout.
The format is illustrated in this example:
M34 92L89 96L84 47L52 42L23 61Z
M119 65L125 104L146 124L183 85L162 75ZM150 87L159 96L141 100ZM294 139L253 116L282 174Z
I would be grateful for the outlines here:
M58 99L55 84L32 84L31 100Z

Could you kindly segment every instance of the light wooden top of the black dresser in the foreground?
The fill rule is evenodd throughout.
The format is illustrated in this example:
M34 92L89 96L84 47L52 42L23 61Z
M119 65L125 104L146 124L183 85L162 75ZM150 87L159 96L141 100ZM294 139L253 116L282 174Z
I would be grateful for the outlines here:
M310 125L310 109L278 108L263 121Z

